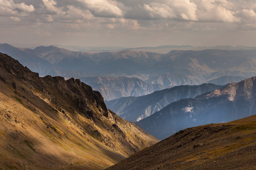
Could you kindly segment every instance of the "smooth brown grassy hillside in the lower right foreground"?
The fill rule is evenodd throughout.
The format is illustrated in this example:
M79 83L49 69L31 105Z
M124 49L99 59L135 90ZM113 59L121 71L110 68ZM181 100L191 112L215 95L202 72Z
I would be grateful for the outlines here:
M181 130L108 168L256 169L256 116Z

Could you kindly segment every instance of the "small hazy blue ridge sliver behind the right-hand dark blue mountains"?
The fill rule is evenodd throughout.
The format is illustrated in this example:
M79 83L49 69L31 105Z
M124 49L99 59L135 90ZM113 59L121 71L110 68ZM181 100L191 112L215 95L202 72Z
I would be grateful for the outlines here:
M221 76L220 78L212 79L208 82L213 84L225 85L233 82L241 82L244 79L246 79L245 76Z

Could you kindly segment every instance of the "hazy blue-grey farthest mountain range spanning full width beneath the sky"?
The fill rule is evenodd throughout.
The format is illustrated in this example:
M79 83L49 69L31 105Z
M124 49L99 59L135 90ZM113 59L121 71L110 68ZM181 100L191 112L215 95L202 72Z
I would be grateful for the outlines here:
M58 75L67 79L126 76L166 87L198 85L221 76L256 75L256 50L241 49L172 50L165 54L133 50L86 53L56 46L23 49L0 45L0 52L10 54L40 76ZM115 94L118 96L118 93Z

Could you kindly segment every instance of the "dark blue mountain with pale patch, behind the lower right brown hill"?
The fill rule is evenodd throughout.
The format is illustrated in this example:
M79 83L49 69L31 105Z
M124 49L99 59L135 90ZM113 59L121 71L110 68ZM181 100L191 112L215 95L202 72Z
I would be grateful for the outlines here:
M181 99L138 122L148 133L164 139L192 126L229 122L256 113L256 77L218 90Z

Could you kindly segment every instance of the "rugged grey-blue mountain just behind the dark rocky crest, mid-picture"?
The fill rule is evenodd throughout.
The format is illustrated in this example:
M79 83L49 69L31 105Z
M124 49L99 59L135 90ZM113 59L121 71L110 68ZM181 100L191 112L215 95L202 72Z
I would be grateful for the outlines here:
M150 84L138 78L127 77L84 77L80 80L93 90L99 91L104 100L113 100L127 96L143 96L151 94L165 87L159 84Z

